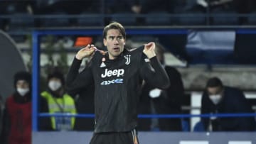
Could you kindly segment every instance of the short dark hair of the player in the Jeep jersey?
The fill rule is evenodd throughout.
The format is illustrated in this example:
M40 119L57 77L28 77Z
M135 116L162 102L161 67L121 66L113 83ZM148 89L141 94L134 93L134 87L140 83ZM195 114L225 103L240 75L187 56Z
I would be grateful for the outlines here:
M119 30L119 32L122 34L122 36L124 37L124 39L126 39L126 33L125 33L125 29L124 26L122 26L121 23L118 23L116 21L113 21L112 23L110 23L109 25L105 26L104 30L103 30L103 38L107 37L107 31L111 30L111 29L117 29Z

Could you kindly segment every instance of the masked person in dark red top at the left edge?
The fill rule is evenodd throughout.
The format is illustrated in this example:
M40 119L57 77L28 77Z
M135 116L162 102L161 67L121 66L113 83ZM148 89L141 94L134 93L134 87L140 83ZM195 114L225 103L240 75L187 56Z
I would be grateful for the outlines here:
M16 72L14 87L4 106L0 142L31 144L31 74Z

